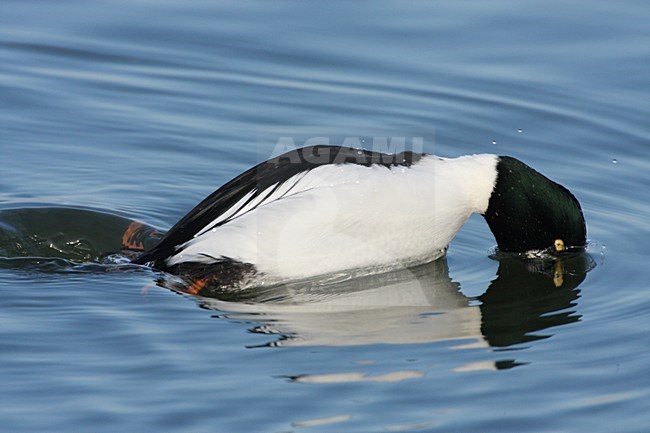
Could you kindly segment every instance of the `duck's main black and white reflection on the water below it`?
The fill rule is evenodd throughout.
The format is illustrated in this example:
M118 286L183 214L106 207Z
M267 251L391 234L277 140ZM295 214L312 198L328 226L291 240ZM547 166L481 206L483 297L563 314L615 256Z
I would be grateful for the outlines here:
M340 282L303 280L223 292L218 298L201 298L200 303L223 316L258 323L253 332L277 334L271 345L469 339L503 347L545 338L548 335L540 331L579 320L571 308L590 266L586 254L533 261L502 257L497 277L478 298L460 292L441 259Z

